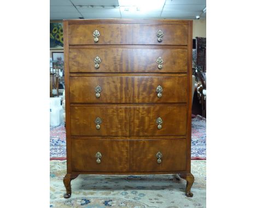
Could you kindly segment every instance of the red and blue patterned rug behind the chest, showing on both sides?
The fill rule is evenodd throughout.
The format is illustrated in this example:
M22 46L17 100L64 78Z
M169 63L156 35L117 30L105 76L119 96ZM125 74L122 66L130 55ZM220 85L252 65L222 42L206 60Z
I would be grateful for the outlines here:
M196 115L192 119L191 159L206 159L206 119ZM50 159L66 159L66 129L64 124L50 127Z

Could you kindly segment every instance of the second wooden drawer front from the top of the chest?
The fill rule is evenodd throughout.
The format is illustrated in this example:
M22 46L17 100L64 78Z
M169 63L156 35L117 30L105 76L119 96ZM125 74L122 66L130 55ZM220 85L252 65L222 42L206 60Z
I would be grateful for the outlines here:
M95 59L96 57L100 58L100 61ZM159 57L161 57L161 59L157 62ZM185 49L70 49L69 71L158 73L187 72L187 59L188 54L187 50ZM160 64L161 61L162 64Z

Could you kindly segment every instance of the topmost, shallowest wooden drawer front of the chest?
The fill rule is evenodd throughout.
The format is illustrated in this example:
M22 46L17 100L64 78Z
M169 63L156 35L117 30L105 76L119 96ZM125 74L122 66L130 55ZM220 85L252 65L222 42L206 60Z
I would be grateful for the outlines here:
M93 33L98 30L98 42ZM158 41L158 31L164 34ZM69 45L187 45L188 25L69 25Z

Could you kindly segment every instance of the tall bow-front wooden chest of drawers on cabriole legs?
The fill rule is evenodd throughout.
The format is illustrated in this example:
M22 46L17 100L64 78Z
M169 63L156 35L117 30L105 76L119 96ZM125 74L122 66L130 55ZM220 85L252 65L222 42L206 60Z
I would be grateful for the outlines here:
M65 20L67 174L179 174L190 192L192 21Z

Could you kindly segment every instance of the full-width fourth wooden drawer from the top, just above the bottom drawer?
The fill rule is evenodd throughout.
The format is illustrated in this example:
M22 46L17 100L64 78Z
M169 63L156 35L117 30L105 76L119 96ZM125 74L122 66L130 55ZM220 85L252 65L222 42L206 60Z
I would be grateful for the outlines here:
M183 136L187 106L71 106L72 136ZM158 129L156 119L162 119ZM102 123L96 129L96 118Z

